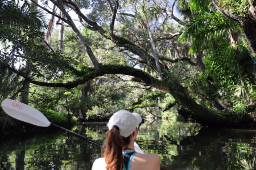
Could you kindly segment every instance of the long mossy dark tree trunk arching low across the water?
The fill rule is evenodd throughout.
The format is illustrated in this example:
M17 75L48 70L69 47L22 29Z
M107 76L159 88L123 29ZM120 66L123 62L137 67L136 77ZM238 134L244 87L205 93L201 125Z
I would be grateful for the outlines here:
M17 73L18 75L22 75L11 67L8 67L8 69L14 71L14 73ZM236 115L232 116L230 114L223 116L203 107L202 105L197 104L196 101L189 97L189 95L187 94L187 89L182 87L179 84L179 81L175 79L160 81L151 76L150 74L130 66L115 65L115 67L113 67L113 65L102 65L99 70L87 69L84 75L88 76L83 76L83 80L79 79L77 80L77 82L72 81L66 83L48 83L38 82L29 78L27 80L29 80L31 83L38 84L39 86L73 88L78 86L79 84L84 84L85 82L88 82L88 80L105 74L125 74L134 76L135 78L137 78L136 80L139 80L139 82L141 83L145 83L146 86L151 86L157 88L160 91L171 94L177 101L179 114L181 114L181 116L184 116L185 118L193 118L203 126L212 126L218 128L256 127L256 121L254 121L251 117L239 117ZM26 78L26 76L22 76Z

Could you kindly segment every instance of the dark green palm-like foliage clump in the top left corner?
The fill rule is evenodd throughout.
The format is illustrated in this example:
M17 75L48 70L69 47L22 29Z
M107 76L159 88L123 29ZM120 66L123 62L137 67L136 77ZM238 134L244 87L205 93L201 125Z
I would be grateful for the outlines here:
M1 8L1 36L3 41L15 41L23 33L29 39L36 39L35 32L40 33L39 29L46 26L42 11L35 10L34 5L24 1L23 5L15 1L3 0L0 2ZM11 32L9 31L11 29ZM38 35L38 37L40 37Z

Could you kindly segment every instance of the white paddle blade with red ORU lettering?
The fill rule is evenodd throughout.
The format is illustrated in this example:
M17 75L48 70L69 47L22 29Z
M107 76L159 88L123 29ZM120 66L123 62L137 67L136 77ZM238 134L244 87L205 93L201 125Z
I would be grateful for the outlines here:
M37 109L19 101L6 99L2 102L3 111L9 116L32 125L48 127L51 122Z

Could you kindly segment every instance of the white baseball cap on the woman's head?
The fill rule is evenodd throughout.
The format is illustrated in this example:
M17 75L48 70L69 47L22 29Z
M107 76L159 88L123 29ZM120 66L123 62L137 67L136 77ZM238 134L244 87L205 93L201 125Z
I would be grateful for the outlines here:
M110 117L108 128L118 126L121 137L129 137L136 127L142 122L142 118L138 113L131 113L126 110L115 112Z

